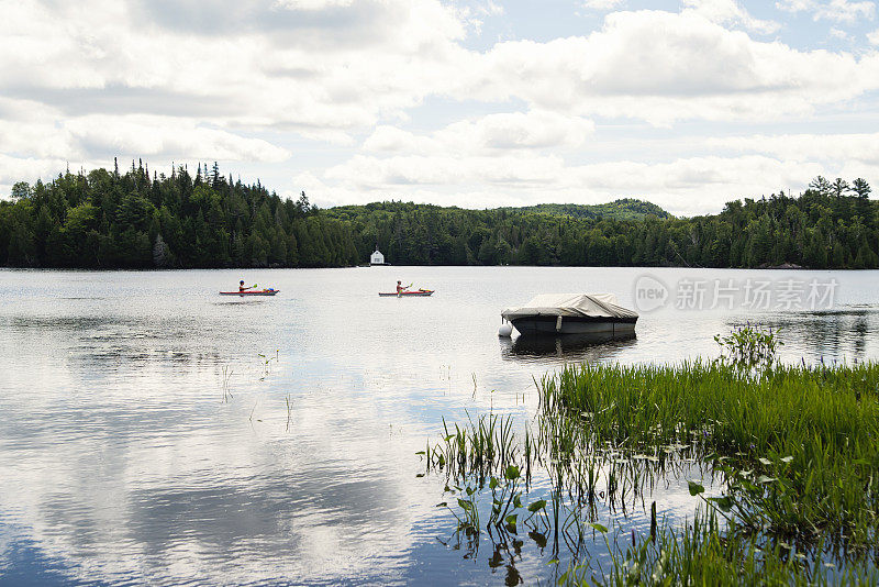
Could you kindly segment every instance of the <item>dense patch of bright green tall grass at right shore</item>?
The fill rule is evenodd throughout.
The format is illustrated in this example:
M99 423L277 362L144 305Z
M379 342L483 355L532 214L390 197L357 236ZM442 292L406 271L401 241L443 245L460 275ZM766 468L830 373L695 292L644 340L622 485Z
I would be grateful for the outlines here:
M869 545L879 525L879 365L783 367L753 377L722 363L569 366L544 378L550 418L593 444L697 448L732 479L755 530Z

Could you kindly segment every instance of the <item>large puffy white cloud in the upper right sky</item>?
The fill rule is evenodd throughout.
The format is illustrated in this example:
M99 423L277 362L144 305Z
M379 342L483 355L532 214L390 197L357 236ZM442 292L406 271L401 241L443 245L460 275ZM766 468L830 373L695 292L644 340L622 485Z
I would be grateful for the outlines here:
M587 37L500 43L480 62L467 87L474 97L660 125L809 114L879 87L875 52L800 52L693 11L616 12Z

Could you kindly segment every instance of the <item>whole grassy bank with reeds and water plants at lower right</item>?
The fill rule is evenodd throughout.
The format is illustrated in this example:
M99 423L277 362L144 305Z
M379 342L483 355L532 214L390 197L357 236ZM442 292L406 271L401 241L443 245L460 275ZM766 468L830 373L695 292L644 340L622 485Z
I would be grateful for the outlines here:
M720 361L568 366L538 384L524 430L493 414L447 427L424 455L459 494L459 530L552 538L554 561L570 555L563 584L879 580L879 365L781 366L771 335L736 336ZM702 507L685 525L656 502L649 533L599 523L597 501L649 507L657 483L693 467ZM549 495L531 492L533 473ZM582 549L598 534L610 567Z

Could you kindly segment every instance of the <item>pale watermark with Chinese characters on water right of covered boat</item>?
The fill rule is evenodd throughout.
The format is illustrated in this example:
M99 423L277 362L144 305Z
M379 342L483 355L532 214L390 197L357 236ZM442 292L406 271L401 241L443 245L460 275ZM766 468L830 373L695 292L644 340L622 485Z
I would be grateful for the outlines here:
M836 299L836 279L682 278L674 288L652 275L635 281L635 307L652 312L677 310L828 310Z

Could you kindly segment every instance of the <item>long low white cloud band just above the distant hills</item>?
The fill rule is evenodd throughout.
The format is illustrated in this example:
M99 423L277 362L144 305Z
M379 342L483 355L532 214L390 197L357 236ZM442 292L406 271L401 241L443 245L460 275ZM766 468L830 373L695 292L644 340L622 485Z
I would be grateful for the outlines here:
M556 156L355 156L322 178L301 176L327 203L404 198L464 208L536 201L598 203L622 197L656 202L676 214L717 212L739 197L804 187L827 173L816 163L759 155L698 156L663 163L616 160L571 165ZM505 203L504 203L505 202Z

